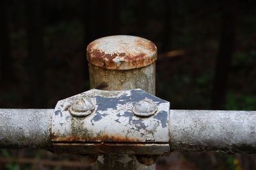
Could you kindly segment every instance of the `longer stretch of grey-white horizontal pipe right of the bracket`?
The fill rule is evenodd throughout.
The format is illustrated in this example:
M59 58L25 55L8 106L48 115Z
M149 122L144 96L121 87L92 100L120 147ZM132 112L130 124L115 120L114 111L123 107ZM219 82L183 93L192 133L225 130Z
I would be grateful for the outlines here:
M256 111L170 110L172 151L256 153Z

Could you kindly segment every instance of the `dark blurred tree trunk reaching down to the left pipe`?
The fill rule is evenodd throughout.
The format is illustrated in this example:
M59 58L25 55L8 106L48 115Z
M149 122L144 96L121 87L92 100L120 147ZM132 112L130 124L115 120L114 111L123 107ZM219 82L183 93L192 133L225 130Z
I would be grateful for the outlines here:
M41 13L41 0L26 0L27 37L29 55L31 106L46 107L45 91L45 49Z

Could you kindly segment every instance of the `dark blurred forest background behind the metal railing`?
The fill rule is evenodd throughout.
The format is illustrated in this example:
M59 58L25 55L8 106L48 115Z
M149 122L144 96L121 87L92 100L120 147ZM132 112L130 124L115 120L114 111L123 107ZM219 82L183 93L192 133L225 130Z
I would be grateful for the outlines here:
M0 108L54 108L89 89L88 43L156 43L157 97L171 109L256 109L253 0L1 0ZM255 155L173 153L157 169L256 169ZM92 169L76 157L1 150L0 169Z

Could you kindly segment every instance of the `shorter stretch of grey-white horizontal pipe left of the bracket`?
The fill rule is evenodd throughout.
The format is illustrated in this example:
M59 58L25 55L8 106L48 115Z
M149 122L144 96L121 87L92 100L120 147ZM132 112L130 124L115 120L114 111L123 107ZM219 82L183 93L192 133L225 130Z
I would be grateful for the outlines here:
M52 150L54 109L0 109L0 148Z

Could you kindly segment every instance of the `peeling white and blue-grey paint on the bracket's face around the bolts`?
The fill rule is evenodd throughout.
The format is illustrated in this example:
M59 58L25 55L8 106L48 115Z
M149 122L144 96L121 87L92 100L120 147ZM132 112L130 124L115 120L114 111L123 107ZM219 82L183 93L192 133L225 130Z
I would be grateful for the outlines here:
M141 90L135 89L135 91ZM148 97L149 96L151 95L148 94ZM73 117L70 119L73 121L67 121L65 118L71 115L66 108L72 104L73 100L83 97L91 98L92 104L95 106L95 111L84 118ZM109 102L114 102L116 100L115 107L113 107L113 104L111 103L106 104L108 102L104 102L106 105L104 105L103 108L102 103L97 103L97 98L100 98L101 102L105 101L104 98L106 98L106 101L108 101L107 99L109 98ZM118 100L118 98L120 98L120 100ZM152 96L152 98L148 98L148 100L154 102L154 98L156 97ZM54 141L65 141L65 138L74 137L74 135L86 137L88 134L90 134L92 139L93 137L100 139L104 134L108 136L117 135L121 139L123 137L124 139L128 138L141 142L145 142L150 138L157 143L169 143L168 125L166 124L163 126L161 120L157 120L157 115L159 112L165 111L166 123L168 123L170 104L164 100L164 102L159 103L157 102L159 98L156 99L156 102L154 102L158 107L157 112L154 115L156 117L150 116L148 118L140 118L132 113L132 107L136 102L132 99L131 91L101 91L92 89L74 97L60 100L56 105L52 118L52 133L58 136ZM63 107L61 107L61 105ZM159 116L160 115L161 114L159 114ZM62 125L60 125L60 123ZM74 131L77 129L79 131Z

